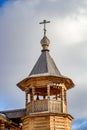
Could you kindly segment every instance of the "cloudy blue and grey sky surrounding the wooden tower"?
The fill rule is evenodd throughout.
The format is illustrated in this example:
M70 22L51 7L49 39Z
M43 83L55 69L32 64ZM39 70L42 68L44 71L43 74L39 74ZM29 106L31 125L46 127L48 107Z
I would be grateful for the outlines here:
M0 110L25 107L16 84L41 54L43 19L50 20L50 54L75 87L68 91L72 130L87 130L87 0L0 1Z

